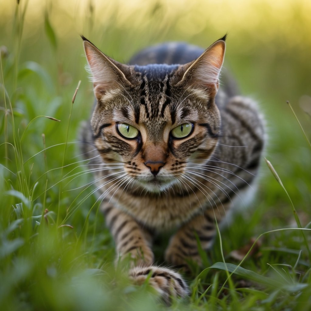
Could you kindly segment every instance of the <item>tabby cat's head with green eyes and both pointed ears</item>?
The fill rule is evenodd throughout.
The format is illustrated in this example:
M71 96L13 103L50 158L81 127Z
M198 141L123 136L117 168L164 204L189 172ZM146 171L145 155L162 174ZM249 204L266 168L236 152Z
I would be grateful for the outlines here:
M82 39L97 99L94 145L104 163L122 163L151 192L182 185L187 163L206 161L218 141L224 40L184 65L129 66Z

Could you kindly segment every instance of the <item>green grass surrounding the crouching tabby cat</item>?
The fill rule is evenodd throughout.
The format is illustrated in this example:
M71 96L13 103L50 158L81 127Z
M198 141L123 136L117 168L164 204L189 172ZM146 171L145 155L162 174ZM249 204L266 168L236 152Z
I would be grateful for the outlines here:
M81 16L75 7L73 17L55 3L39 7L31 0L20 1L0 13L1 308L167 309L147 285L132 285L122 267L114 267L113 240L88 186L92 176L79 156L80 123L91 113L93 95L82 44L73 29L89 35L105 53L126 61L140 47L157 41L183 39L206 46L228 28L216 28L214 33L218 24L213 17L195 32L200 25L191 28L189 21L195 19L183 15L187 8L177 6L168 15L165 2L126 8L129 15L108 4L105 11L96 10L98 4L90 1ZM297 3L288 11L296 17L286 20L304 29L295 40L309 22L307 15L301 15L303 4ZM31 15L35 5L41 9L36 18ZM248 9L250 16L257 10ZM139 10L144 14L134 18ZM262 5L256 14L269 21L267 10ZM202 14L195 6L190 11ZM64 28L65 17L69 28ZM229 31L226 66L236 74L243 92L256 94L262 103L269 132L266 157L273 174L263 161L251 207L236 213L218 234L214 248L207 256L202 254L206 269L192 267L188 276L192 294L188 300L174 301L172 310L311 308L311 123L297 104L301 95L308 95L311 68L305 50L311 41L304 36L298 44L304 48L295 49L290 44L293 33L283 33L282 26L269 25L275 26L270 32L263 26L256 32L248 22L248 27ZM252 37L247 28L257 35ZM263 41L265 32L270 37ZM286 49L280 48L285 39ZM245 42L246 54L241 52ZM161 241L157 253L166 243ZM245 245L249 247L243 250ZM240 250L242 257L233 256L233 250Z

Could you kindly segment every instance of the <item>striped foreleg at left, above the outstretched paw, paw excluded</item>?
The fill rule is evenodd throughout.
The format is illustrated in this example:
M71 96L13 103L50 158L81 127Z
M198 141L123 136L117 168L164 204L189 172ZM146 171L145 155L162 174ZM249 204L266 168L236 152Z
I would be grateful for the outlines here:
M130 257L131 265L149 266L153 263L154 255L151 250L151 235L127 213L103 203L107 226L114 237L116 245L116 261Z

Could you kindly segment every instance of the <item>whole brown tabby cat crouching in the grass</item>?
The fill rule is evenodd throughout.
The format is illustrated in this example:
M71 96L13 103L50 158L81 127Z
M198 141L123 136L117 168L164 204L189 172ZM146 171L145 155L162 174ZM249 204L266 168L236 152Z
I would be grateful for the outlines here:
M131 257L134 282L165 301L185 296L182 277L154 263L152 240L172 229L169 267L201 264L235 196L256 175L263 127L230 79L219 88L225 37L207 50L167 43L118 63L82 37L97 104L83 129L116 260ZM218 94L217 94L218 92ZM217 95L217 96L216 96ZM163 262L157 258L157 262Z

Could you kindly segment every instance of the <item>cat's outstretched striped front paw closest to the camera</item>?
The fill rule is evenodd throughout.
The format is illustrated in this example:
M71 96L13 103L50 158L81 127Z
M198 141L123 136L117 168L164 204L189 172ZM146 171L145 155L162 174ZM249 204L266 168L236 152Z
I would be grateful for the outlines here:
M189 294L188 285L176 272L168 268L149 266L134 267L129 276L137 284L148 283L160 294L166 304L171 304L172 297L185 297Z

